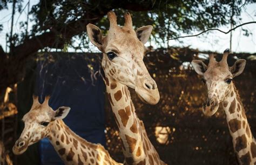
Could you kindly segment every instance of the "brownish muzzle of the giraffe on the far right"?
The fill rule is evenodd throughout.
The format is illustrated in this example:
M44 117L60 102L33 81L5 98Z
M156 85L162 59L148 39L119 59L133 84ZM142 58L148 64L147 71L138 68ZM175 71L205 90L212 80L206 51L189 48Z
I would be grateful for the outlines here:
M216 97L207 98L203 106L203 113L206 116L214 115L219 109L219 102Z

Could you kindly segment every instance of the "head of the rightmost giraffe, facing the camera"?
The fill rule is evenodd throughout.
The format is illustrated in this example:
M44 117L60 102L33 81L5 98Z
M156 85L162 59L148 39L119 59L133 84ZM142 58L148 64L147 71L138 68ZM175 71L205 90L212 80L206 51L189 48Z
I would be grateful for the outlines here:
M203 81L207 86L207 99L203 106L203 113L207 116L217 112L220 102L224 101L230 93L232 79L244 71L246 60L239 59L234 65L229 67L227 56L230 53L226 49L221 61L216 61L213 54L210 55L208 66L200 60L192 60L194 70L203 76Z

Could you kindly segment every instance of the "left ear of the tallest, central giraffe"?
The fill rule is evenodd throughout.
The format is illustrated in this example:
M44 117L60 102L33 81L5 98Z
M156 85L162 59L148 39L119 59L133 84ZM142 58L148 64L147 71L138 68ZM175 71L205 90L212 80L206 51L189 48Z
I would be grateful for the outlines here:
M93 24L87 24L86 29L87 29L87 34L91 43L97 46L99 50L102 50L102 46L103 46L102 31Z

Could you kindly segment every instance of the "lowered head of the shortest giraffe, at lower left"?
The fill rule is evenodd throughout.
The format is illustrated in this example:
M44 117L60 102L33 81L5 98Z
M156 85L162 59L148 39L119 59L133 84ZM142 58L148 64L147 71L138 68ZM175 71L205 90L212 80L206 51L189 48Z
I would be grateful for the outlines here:
M51 122L57 119L64 119L70 111L70 107L59 107L56 111L48 105L49 97L46 97L43 104L40 104L38 97L33 96L33 104L28 113L23 116L25 127L19 139L16 141L12 151L20 155L30 145L49 136Z

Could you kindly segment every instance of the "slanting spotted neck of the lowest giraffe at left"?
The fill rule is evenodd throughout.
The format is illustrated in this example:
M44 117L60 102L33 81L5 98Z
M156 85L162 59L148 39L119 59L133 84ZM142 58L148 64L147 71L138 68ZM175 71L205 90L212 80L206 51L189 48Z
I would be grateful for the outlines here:
M80 138L62 120L51 123L48 138L65 164L118 164L103 146Z

